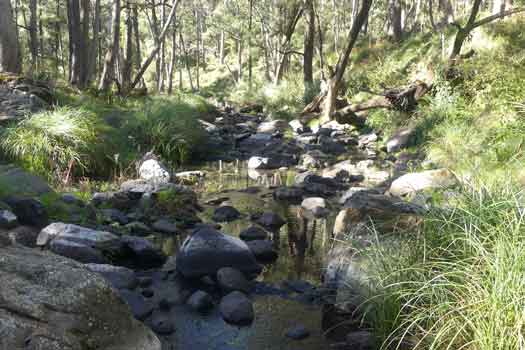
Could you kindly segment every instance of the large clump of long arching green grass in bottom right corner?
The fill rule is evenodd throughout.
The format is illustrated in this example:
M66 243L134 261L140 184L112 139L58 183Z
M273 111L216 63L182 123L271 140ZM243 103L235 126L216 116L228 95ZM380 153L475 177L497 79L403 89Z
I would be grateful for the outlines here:
M399 246L370 248L363 308L383 349L525 349L523 195L466 188Z

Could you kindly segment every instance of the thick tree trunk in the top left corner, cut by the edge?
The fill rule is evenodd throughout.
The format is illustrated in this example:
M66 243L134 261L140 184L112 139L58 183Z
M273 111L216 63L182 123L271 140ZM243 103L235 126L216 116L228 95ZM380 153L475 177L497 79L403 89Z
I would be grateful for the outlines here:
M20 46L10 0L0 0L0 71L20 73Z

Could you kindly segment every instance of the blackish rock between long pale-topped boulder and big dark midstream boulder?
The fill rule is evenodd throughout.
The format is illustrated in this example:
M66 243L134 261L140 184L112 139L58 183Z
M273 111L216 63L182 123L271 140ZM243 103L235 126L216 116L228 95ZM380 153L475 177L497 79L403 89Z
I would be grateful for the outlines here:
M134 266L148 269L160 267L166 262L166 256L144 238L123 236L121 241Z

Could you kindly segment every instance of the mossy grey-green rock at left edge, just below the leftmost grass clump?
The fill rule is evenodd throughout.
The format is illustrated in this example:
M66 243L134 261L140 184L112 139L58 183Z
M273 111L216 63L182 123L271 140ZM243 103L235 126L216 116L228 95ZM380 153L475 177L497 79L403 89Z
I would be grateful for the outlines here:
M43 178L13 165L0 164L0 188L4 196L37 197L53 190Z

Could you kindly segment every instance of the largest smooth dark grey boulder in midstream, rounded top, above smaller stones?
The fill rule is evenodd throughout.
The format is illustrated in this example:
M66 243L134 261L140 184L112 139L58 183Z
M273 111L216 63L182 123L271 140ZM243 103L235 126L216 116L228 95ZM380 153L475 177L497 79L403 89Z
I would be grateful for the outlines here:
M186 278L215 276L222 267L247 275L261 272L246 243L212 228L202 228L186 238L177 255L177 270Z

